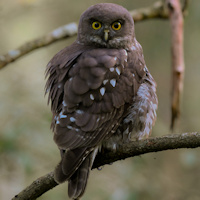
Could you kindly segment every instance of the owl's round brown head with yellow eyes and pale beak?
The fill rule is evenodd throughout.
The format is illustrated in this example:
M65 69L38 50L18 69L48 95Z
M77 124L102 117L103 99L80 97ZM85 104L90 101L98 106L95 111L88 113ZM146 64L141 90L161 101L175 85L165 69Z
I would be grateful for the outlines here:
M127 48L134 35L134 21L128 10L116 4L100 3L81 15L77 41L104 48Z

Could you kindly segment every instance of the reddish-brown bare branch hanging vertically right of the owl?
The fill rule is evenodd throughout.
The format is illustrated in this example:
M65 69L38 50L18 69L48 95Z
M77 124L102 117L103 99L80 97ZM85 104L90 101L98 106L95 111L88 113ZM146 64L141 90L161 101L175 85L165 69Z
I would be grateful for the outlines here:
M184 6L187 6L185 1ZM166 0L171 25L172 50L172 100L171 100L171 129L180 115L180 99L184 81L184 54L183 54L183 14L180 0Z

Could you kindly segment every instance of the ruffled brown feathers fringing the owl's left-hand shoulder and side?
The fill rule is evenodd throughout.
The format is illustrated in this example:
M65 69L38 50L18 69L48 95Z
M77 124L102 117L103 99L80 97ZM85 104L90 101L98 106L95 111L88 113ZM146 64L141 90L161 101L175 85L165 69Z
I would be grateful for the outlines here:
M48 63L45 77L45 94L48 93L48 104L51 101L53 115L59 113L63 101L63 85L68 79L68 71L73 62L89 47L73 43L71 46L62 49ZM52 123L52 127L54 124Z

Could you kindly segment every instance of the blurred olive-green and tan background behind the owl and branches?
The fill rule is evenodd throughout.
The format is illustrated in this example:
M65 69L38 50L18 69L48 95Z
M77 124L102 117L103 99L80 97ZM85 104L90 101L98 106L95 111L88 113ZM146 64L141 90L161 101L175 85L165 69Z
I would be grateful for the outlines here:
M0 0L0 55L43 36L99 2L128 10L153 0ZM185 18L185 81L182 115L175 133L200 131L200 4L190 1ZM158 84L158 119L153 136L169 134L171 54L168 20L136 25L145 60ZM51 112L44 97L48 61L75 37L33 51L0 71L0 199L9 200L36 178L52 171L60 155L53 142ZM198 200L200 149L151 153L93 170L83 200ZM65 200L67 184L40 200Z

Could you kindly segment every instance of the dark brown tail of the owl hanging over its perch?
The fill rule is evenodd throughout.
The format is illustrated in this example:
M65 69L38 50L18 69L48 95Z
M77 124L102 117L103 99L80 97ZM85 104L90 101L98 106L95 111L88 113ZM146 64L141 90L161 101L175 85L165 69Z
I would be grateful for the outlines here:
M55 169L58 183L68 181L68 196L78 200L85 192L87 180L98 149L73 149L65 152Z

